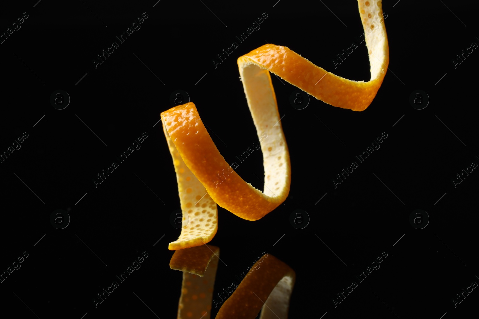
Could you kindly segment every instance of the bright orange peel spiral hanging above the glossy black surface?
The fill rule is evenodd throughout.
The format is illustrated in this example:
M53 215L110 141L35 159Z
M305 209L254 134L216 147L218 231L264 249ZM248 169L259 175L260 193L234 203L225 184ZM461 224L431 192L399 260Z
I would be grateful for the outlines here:
M371 80L351 81L315 66L285 46L265 44L240 56L239 74L258 136L264 192L245 182L219 153L192 102L161 113L175 166L183 229L170 250L202 245L217 232L217 204L245 220L259 220L289 193L291 166L270 72L328 104L365 110L376 96L389 63L381 1L358 0L371 66ZM376 22L381 18L380 23ZM326 76L327 75L327 76ZM271 136L271 137L269 137ZM218 181L225 179L218 186Z

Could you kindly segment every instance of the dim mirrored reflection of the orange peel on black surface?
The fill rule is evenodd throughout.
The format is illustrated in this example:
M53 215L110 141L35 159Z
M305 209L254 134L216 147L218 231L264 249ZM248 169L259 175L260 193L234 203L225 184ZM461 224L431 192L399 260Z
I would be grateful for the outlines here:
M210 318L218 254L219 248L210 245L178 250L173 254L170 267L183 271L178 319ZM287 319L296 279L294 270L273 255L263 255L262 262L257 261L253 268L257 271L247 275L231 296L226 294L228 299L216 319L253 319L261 309L260 319Z

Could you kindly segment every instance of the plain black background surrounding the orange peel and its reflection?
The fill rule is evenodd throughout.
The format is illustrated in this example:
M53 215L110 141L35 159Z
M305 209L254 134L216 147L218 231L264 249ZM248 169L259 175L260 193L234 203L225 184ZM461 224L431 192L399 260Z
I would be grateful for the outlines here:
M336 75L367 81L364 43L336 69L332 63L364 32L357 2L35 2L2 4L1 10L1 33L23 12L29 15L0 44L0 151L28 133L0 164L0 271L29 254L0 284L2 311L42 319L174 318L182 273L169 267L168 243L180 234L170 223L180 202L158 122L171 108L171 93L188 92L221 154L236 161L257 138L236 59L266 43L285 45ZM479 173L456 188L452 179L479 163L479 54L474 50L456 68L452 60L479 43L477 8L459 1L395 2L383 4L389 69L365 111L313 97L297 110L289 103L297 88L272 76L292 163L291 191L255 222L218 208L210 244L220 247L223 262L215 295L266 251L296 271L290 318L447 319L476 310L477 289L456 308L452 299L479 282ZM143 12L148 19L141 29L95 68L96 55ZM217 54L263 12L268 18L261 29L215 68ZM71 98L64 110L50 104L57 89ZM430 98L423 110L409 102L417 89ZM143 132L148 138L141 148L95 188L92 179ZM332 178L382 132L388 137L380 149L335 188ZM264 173L261 152L236 171L262 189L255 176ZM71 217L63 230L50 224L56 209ZM295 209L308 212L302 230L289 222ZM430 218L421 230L409 222L415 209ZM148 258L141 268L95 308L92 298L142 252ZM388 257L381 267L335 308L332 298L382 252ZM217 310L213 305L212 318Z

